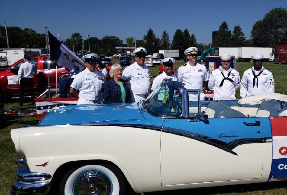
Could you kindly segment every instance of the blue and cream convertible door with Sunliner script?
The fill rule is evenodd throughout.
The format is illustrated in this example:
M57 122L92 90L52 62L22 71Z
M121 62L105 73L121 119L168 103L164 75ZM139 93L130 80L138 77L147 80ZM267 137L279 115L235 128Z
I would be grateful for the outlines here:
M261 120L166 119L160 155L163 186L261 178Z

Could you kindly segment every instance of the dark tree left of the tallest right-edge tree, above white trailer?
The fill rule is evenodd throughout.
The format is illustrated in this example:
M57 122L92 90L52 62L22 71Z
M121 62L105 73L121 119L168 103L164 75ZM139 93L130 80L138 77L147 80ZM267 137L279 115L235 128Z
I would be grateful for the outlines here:
M252 27L251 39L253 47L267 47L271 43L270 36L263 26L262 20L258 20Z

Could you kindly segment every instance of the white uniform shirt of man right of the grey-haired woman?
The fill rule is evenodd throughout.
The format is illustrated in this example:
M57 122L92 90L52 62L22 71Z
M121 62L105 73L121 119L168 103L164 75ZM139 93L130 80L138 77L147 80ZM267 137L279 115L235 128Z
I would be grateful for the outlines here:
M150 68L147 65L139 66L134 62L124 69L121 79L130 82L132 94L144 97L150 92L150 77Z

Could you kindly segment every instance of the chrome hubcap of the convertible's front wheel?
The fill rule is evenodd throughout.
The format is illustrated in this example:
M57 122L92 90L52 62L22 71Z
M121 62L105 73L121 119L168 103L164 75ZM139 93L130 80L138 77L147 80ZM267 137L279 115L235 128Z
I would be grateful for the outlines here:
M74 195L105 195L110 194L111 190L110 179L100 171L86 171L73 184Z

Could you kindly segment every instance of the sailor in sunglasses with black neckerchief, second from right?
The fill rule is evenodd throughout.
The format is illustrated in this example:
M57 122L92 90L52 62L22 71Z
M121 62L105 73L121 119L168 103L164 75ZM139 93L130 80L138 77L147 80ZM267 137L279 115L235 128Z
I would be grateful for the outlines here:
M221 66L209 75L208 88L213 91L213 100L235 100L235 91L240 87L237 70L230 67L231 55L220 56Z

